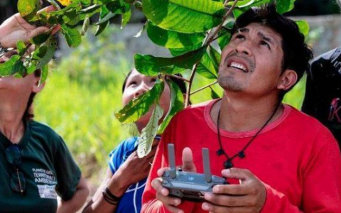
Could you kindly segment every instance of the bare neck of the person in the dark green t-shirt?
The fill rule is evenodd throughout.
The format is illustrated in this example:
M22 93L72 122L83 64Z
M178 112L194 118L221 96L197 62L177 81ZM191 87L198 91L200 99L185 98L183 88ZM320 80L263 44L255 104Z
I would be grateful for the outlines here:
M25 107L21 107L25 106ZM23 113L26 105L9 104L9 102L2 102L0 104L0 131L9 138L12 143L19 143L25 132L23 124Z

